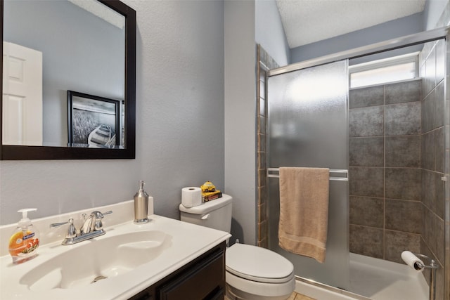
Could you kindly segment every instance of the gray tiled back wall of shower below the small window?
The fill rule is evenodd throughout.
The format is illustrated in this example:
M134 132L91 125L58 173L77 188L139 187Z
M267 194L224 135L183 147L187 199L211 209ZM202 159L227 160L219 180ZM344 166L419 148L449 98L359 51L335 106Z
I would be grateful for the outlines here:
M350 251L420 250L420 80L349 91Z

